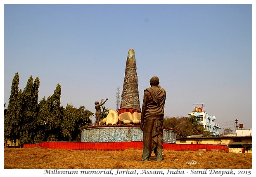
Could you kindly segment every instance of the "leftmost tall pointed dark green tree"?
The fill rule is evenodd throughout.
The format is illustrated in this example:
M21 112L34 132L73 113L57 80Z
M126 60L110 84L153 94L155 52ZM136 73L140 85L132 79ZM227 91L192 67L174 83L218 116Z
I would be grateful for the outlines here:
M21 93L21 90L19 91L19 74L16 72L12 79L9 105L4 118L5 147L7 140L14 142L15 147L17 139L19 139L19 122L22 110Z

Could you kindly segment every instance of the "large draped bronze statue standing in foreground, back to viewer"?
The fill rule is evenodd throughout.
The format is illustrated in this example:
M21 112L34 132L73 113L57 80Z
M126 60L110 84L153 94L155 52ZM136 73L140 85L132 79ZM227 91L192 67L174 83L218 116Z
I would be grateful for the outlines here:
M157 161L162 161L163 122L166 91L159 85L159 78L150 79L150 87L144 90L140 128L143 131L142 162L149 161L154 151Z

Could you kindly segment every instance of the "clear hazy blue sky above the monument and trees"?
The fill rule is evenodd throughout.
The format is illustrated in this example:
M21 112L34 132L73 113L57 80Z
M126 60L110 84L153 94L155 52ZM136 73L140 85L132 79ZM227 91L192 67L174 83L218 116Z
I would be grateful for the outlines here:
M252 5L5 5L4 102L39 77L39 101L62 86L63 107L123 89L135 50L140 105L152 76L166 90L165 116L188 116L203 103L220 127L252 128ZM121 100L120 100L121 101ZM93 117L94 118L94 117Z

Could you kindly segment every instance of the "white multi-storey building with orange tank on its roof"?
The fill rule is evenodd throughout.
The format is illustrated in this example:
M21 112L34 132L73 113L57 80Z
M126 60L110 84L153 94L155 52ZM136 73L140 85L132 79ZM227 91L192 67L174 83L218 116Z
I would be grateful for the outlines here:
M220 127L214 122L216 116L205 112L204 104L193 104L193 111L188 113L188 115L196 116L200 126L203 126L205 130L211 132L212 135L220 136Z

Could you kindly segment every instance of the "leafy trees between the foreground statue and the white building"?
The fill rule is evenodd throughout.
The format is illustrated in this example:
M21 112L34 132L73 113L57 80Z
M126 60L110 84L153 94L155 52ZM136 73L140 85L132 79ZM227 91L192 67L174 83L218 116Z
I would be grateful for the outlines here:
M198 125L197 117L168 117L164 118L164 127L172 128L176 132L176 137L187 137L191 135L212 136L211 132L206 131L204 127Z

